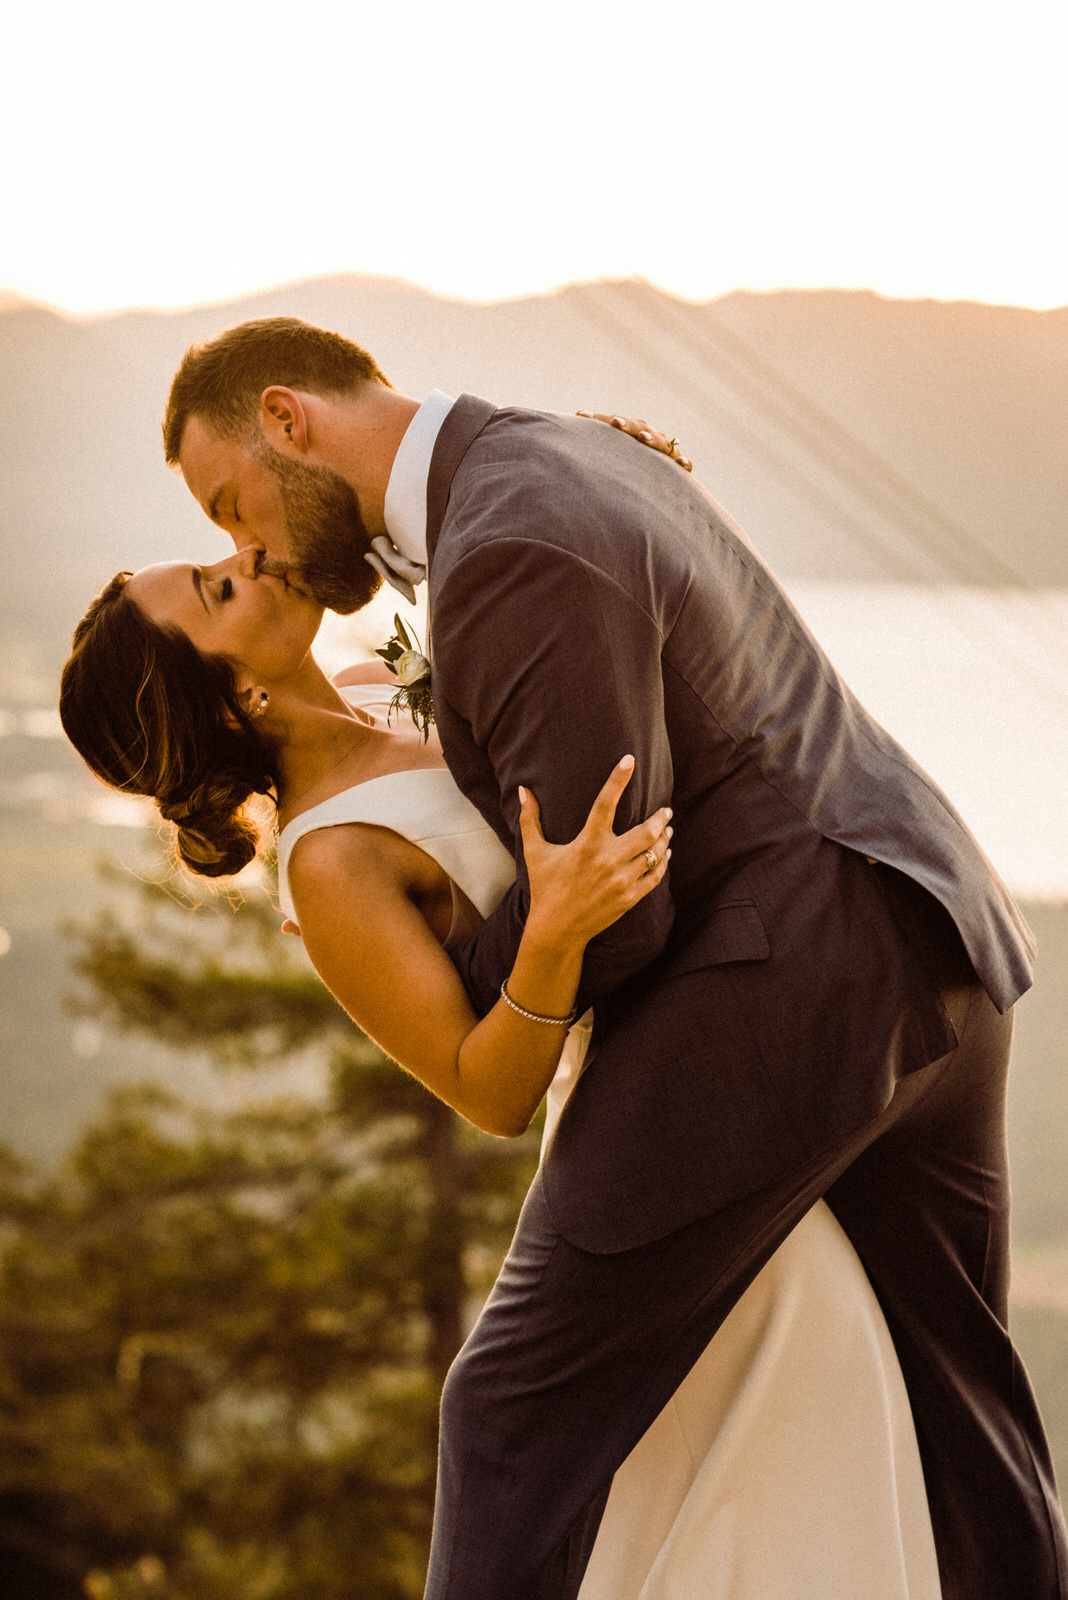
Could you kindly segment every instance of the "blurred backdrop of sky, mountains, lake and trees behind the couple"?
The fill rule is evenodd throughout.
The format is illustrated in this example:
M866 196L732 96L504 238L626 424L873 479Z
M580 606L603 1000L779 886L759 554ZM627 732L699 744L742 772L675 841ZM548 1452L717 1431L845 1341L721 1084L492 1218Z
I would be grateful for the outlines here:
M1068 1474L1066 46L1039 0L5 18L5 1594L419 1595L436 1386L532 1170L355 1034L269 870L198 894L58 726L90 595L227 552L160 418L275 312L416 397L676 434L950 790L1041 942L1014 1331Z

